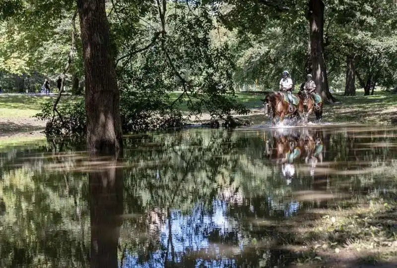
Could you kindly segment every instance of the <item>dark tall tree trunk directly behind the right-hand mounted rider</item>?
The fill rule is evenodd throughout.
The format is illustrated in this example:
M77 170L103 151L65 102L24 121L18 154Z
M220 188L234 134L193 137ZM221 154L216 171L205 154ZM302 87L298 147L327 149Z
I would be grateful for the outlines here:
M327 68L324 59L324 3L322 0L309 0L307 19L310 24L310 49L313 64L313 80L316 83L316 91L321 95L325 103L333 103L327 79Z

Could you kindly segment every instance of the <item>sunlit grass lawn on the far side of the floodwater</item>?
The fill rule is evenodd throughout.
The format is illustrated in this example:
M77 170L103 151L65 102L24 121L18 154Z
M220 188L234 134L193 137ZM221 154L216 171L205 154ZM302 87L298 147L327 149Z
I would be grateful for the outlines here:
M180 96L180 92L170 92L171 100ZM357 96L345 97L343 93L334 93L338 103L324 107L324 121L356 122L368 124L390 124L391 117L397 112L397 95L385 91L376 91L374 96L363 96L362 90L357 90ZM263 92L238 92L236 99L250 109L261 109ZM82 97L63 96L62 101L75 100ZM0 94L1 118L28 118L40 111L40 106L56 96L41 96L28 94ZM187 100L177 104L183 112L188 112ZM265 120L262 113L253 115ZM261 117L261 118L259 118ZM262 118L263 117L263 118ZM254 122L257 120L254 120Z

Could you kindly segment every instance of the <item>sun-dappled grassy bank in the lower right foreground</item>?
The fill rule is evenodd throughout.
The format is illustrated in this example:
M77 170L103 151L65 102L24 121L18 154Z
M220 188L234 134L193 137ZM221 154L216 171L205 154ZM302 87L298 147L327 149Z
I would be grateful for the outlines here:
M297 254L297 267L364 268L396 262L396 205L382 200L329 201L328 209L311 209L282 225L268 220L256 224L269 230L268 237L262 234L264 240L279 232L281 248Z

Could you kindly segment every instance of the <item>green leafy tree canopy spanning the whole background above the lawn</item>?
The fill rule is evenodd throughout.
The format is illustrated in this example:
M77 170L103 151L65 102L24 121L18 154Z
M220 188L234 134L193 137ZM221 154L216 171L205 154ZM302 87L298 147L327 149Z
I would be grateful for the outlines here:
M246 113L233 97L235 91L276 90L283 70L291 73L295 87L313 73L328 102L334 101L330 87L345 88L346 95L355 95L356 87L364 88L365 95L376 86L396 87L393 0L113 0L105 4L126 131L176 126L182 103L193 117L203 111L214 119ZM2 1L3 89L21 90L32 84L29 90L34 91L40 79L54 80L62 73L75 10L71 0ZM74 34L68 87L85 77L78 21ZM15 77L21 81L18 87L13 86ZM170 91L180 92L176 100L170 98Z

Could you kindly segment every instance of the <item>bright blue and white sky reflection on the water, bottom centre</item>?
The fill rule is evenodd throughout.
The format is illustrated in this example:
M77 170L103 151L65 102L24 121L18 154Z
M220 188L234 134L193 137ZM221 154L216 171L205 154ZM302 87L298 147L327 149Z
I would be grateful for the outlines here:
M268 199L271 208L278 207L279 204L273 204L271 199ZM299 202L291 202L285 204L284 215L292 216L299 209ZM282 209L279 207L279 209ZM238 231L237 222L228 217L228 204L225 201L215 200L212 203L212 212L208 212L202 204L196 205L192 210L192 214L183 215L179 210L171 212L171 234L172 242L175 252L175 262L182 263L186 257L187 252L199 252L204 259L196 257L194 261L195 267L236 267L236 262L230 258L224 258L221 255L220 244L228 244L225 237L232 234L231 243L238 243L234 245L234 253L241 253L243 249L242 234ZM160 241L164 250L158 250L150 253L148 262L143 264L138 263L138 256L127 254L124 266L125 268L160 268L164 267L164 260L166 258L168 249L168 260L172 260L171 245L169 244L169 220L166 219L166 224L161 229ZM211 242L210 237L214 237L216 241ZM214 244L215 243L215 244ZM240 250L239 250L240 249ZM210 253L210 254L209 254ZM210 255L211 258L205 258ZM214 259L214 257L216 259ZM210 260L208 260L210 259Z

